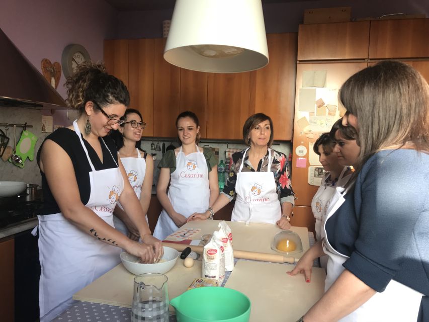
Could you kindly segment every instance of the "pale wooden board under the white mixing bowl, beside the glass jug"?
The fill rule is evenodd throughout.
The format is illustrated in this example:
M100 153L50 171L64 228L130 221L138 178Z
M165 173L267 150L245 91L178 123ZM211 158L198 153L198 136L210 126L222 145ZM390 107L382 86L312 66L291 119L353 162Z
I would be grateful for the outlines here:
M185 292L197 277L201 277L201 261L186 268L178 258L176 265L165 275L168 277L168 297L175 298ZM87 287L73 294L73 299L85 302L131 307L135 275L119 264ZM174 308L170 306L170 311Z

